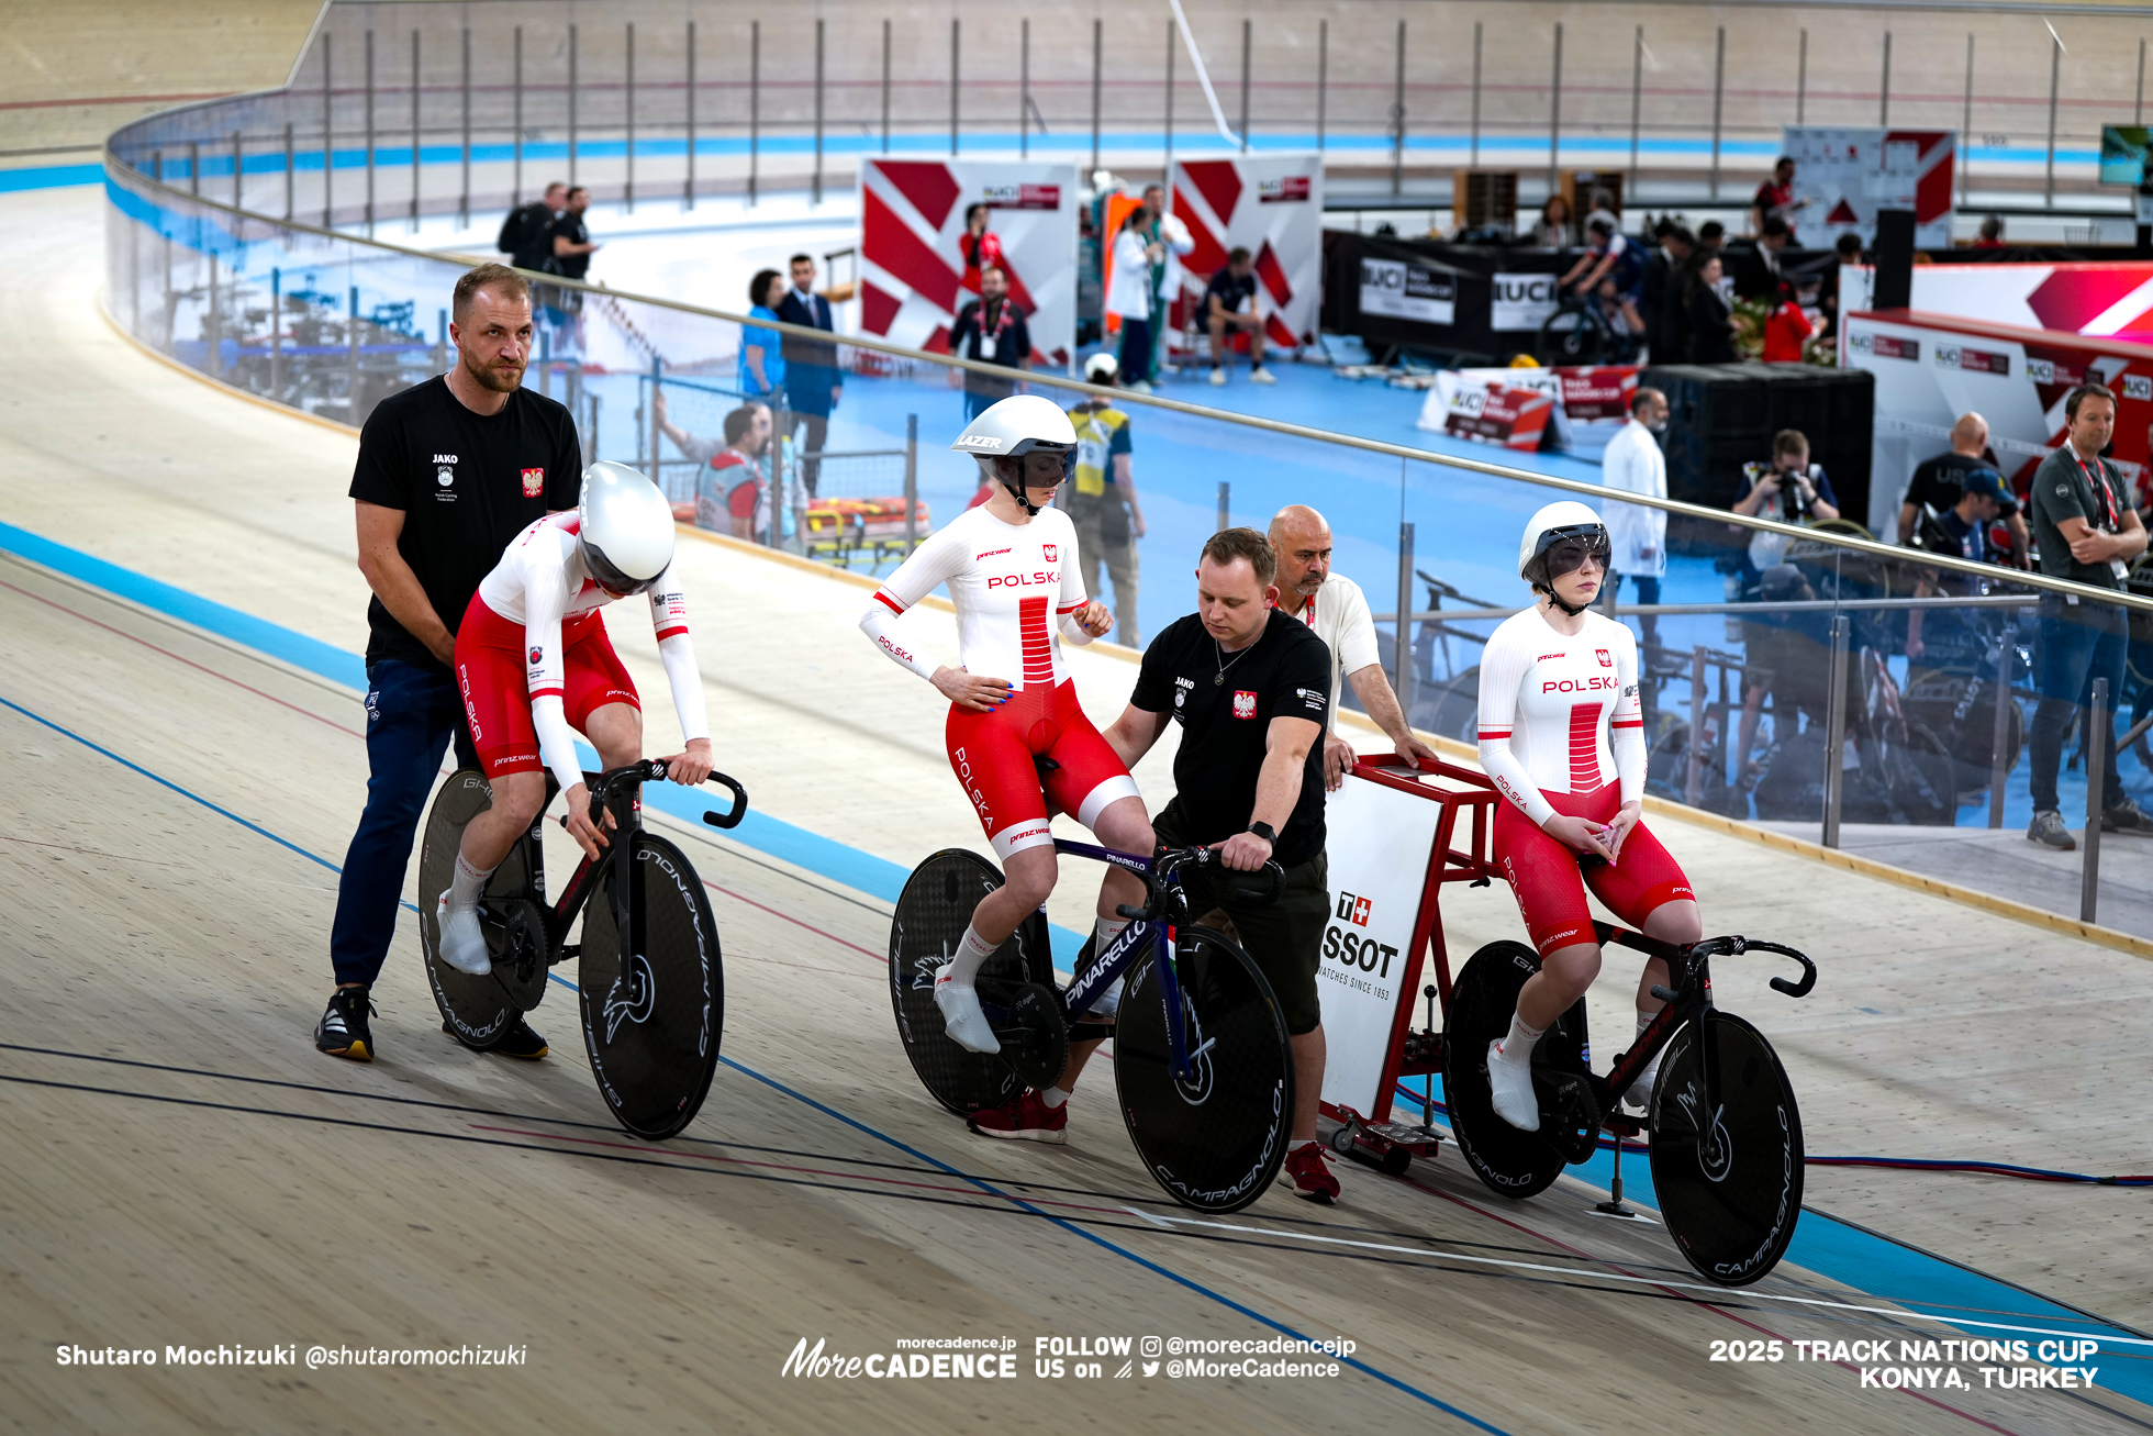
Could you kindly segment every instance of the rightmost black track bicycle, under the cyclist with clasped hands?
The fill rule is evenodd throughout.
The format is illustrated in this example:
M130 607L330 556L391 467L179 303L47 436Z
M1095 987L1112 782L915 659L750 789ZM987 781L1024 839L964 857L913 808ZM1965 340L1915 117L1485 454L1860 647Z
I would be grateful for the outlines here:
M1600 1130L1649 1132L1660 1216L1684 1259L1709 1281L1740 1287L1770 1272L1802 1214L1802 1115L1793 1087L1763 1033L1712 1001L1712 958L1770 952L1793 958L1802 977L1772 977L1787 997L1817 986L1817 965L1781 943L1714 937L1690 947L1595 921L1600 943L1664 958L1673 990L1645 1033L1600 1076L1591 1070L1585 999L1533 1048L1539 1130L1520 1132L1496 1115L1488 1087L1488 1044L1509 1031L1518 990L1539 971L1524 943L1488 943L1451 986L1443 1023L1443 1092L1451 1135L1488 1188L1505 1197L1546 1191L1563 1167L1600 1145ZM1621 1094L1660 1059L1643 1120L1621 1111ZM1619 1154L1617 1154L1619 1160ZM1619 1171L1619 1167L1617 1167ZM1619 1178L1617 1178L1619 1180ZM1615 1193L1619 1206L1619 1188Z

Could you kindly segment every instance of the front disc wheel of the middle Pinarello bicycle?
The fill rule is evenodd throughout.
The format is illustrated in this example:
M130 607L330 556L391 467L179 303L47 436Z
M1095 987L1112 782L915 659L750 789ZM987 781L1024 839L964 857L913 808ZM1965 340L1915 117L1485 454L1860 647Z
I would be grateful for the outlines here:
M1238 1212L1285 1163L1294 1117L1294 1048L1255 960L1208 928L1178 928L1188 1081L1173 1074L1158 949L1128 973L1113 1038L1122 1120L1143 1167L1182 1206Z

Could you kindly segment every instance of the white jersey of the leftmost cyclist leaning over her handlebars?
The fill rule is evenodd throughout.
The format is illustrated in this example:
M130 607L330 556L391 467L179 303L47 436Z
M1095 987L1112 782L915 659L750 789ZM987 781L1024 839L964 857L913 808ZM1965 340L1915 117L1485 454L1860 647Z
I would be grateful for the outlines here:
M594 614L614 601L583 568L583 547L577 543L581 517L547 515L502 553L502 562L478 581L478 596L508 622L523 624L527 646L527 685L532 728L538 732L538 756L553 771L562 792L583 782L583 764L575 756L575 730L562 706L566 663L560 629L571 618ZM695 665L695 644L687 633L687 594L674 579L672 564L650 586L650 627L657 631L659 659L672 687L674 713L683 738L708 738L710 719L702 702L702 670Z

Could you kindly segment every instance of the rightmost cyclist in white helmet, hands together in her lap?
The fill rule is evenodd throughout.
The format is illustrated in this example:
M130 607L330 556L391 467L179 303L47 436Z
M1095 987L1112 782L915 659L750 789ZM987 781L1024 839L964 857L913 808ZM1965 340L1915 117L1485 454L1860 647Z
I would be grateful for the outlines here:
M1585 504L1548 504L1524 525L1518 577L1539 603L1511 614L1481 657L1479 756L1503 803L1494 857L1539 949L1539 971L1518 992L1509 1036L1488 1044L1494 1109L1539 1130L1533 1044L1600 975L1587 885L1630 928L1669 943L1703 937L1697 896L1660 840L1638 822L1645 799L1645 719L1636 695L1636 639L1593 614L1608 568L1608 532ZM1666 962L1651 958L1636 984L1636 1029L1664 1005ZM1626 1094L1651 1100L1651 1064Z

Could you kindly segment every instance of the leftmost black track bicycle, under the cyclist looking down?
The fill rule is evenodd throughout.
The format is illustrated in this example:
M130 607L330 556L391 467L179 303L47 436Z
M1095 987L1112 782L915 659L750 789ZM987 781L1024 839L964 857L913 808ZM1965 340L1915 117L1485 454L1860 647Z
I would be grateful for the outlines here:
M420 945L450 1036L476 1051L495 1046L545 997L551 969L577 958L583 1048L599 1094L622 1128L652 1141L695 1120L717 1072L726 1023L717 921L702 878L680 848L642 827L642 786L663 777L663 758L583 775L590 809L609 812L618 827L601 857L577 863L551 906L540 844L545 807L538 809L487 878L478 906L491 973L461 973L441 960L433 904L450 885L465 825L493 805L493 786L478 769L459 769L441 784L418 859ZM723 773L710 782L732 790L732 809L706 812L704 822L736 827L747 814L747 790ZM547 807L558 792L549 775ZM583 937L568 943L579 915Z

